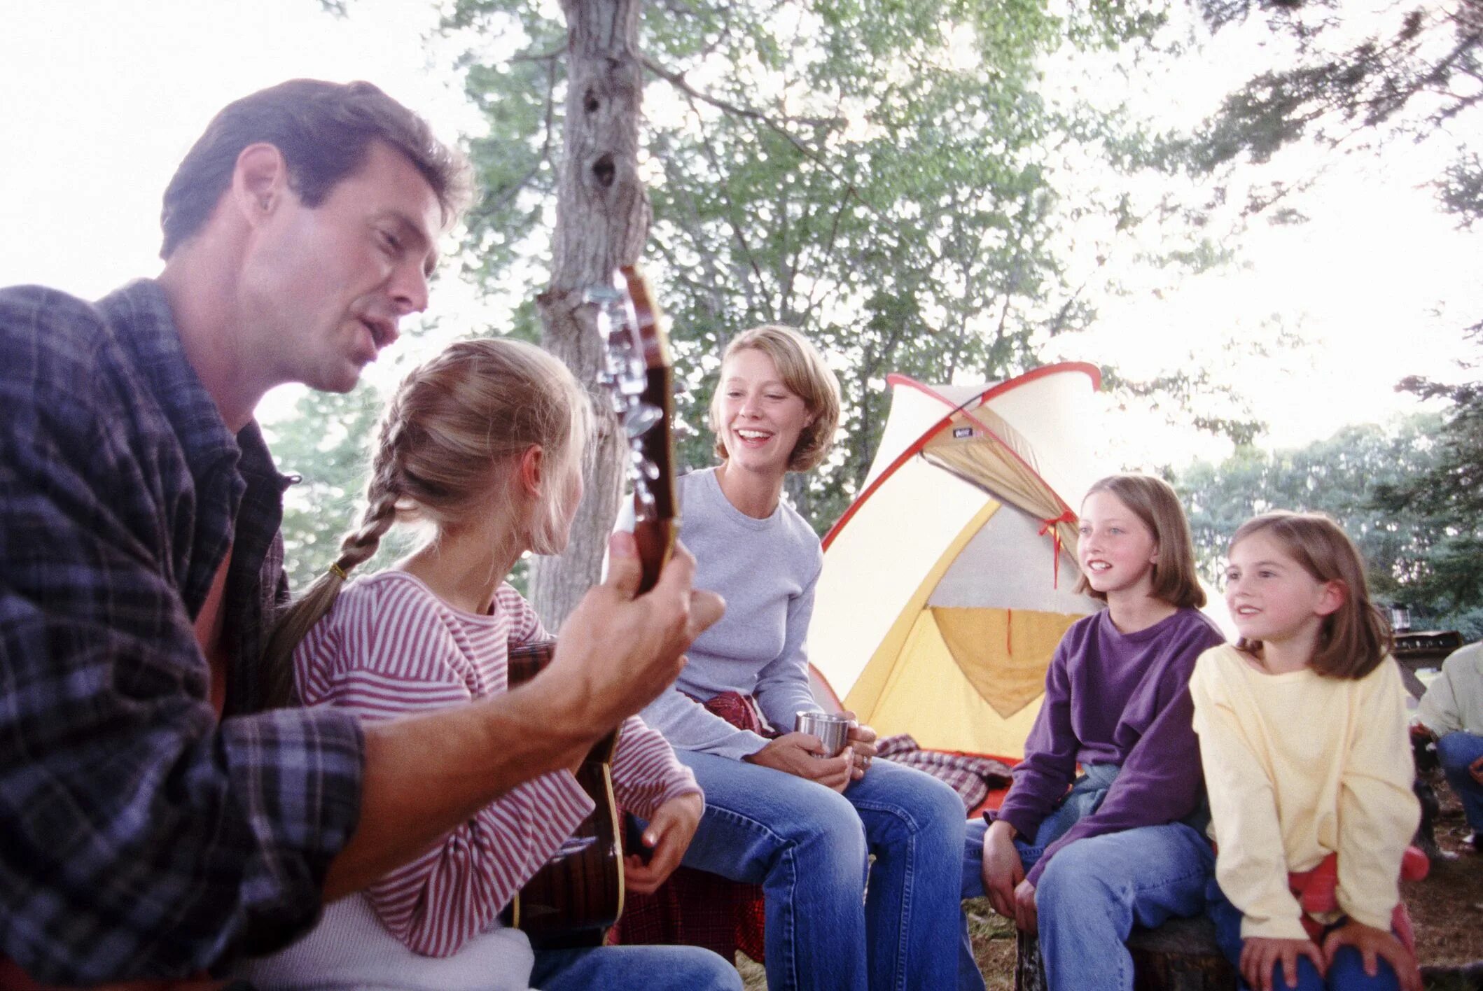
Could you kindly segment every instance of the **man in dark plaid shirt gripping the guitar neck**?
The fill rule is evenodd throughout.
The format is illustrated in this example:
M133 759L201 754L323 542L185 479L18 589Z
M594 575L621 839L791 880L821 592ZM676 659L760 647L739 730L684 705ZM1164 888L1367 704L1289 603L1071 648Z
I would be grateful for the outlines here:
M377 723L267 708L289 480L254 407L282 382L350 390L427 305L461 176L374 86L283 83L187 154L159 278L96 305L0 292L4 987L182 979L286 945L577 763L719 616L682 553L636 595L620 542L528 686Z

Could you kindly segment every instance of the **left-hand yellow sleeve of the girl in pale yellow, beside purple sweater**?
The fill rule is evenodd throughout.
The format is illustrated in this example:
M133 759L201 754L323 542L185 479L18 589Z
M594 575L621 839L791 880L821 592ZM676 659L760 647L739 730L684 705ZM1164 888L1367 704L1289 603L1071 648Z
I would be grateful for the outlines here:
M1216 828L1216 881L1241 910L1241 938L1308 939L1302 908L1287 890L1287 856L1277 797L1258 748L1246 736L1212 655L1189 680L1206 791Z

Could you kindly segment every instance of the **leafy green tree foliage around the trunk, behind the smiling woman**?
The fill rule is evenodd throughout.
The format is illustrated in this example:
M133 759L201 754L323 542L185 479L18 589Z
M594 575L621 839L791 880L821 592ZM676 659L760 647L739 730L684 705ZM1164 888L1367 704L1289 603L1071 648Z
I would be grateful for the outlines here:
M682 467L712 461L704 410L718 357L749 326L802 327L839 373L839 449L789 484L823 529L869 468L887 373L1005 378L1040 363L1053 336L1093 321L1096 299L1115 292L1103 268L1111 246L1154 207L1115 182L1084 182L1074 203L1062 188L1090 163L1133 173L1167 161L1123 111L1047 104L1041 73L1068 47L1146 44L1164 7L1099 1L1054 15L1050 6L645 7L641 167L654 215L651 274L672 318ZM470 144L489 193L470 218L466 268L488 286L523 281L526 295L549 250L565 99L558 16L555 4L457 0L445 19L475 49L466 87L489 123ZM1078 230L1081 255L1096 256L1090 273L1071 261ZM1195 238L1175 249L1182 255L1130 261L1200 271L1226 259ZM1203 401L1185 376L1175 379ZM1253 428L1206 419L1238 437Z

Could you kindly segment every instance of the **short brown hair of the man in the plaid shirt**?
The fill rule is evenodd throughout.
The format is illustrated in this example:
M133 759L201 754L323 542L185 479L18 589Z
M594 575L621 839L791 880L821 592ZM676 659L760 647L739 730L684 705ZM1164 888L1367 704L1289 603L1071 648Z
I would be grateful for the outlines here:
M316 207L341 179L354 175L383 141L406 156L443 207L443 222L469 198L464 157L437 141L421 117L371 83L292 79L227 104L191 147L165 190L160 258L190 240L231 185L237 156L265 142L283 153L289 188Z

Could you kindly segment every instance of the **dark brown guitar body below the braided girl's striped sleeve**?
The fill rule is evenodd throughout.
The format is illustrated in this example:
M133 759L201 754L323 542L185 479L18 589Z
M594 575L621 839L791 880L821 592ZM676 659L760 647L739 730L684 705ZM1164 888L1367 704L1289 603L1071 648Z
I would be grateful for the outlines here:
M534 678L555 653L555 640L510 647L510 687ZM596 806L541 870L521 887L506 921L537 950L601 947L623 914L623 849L612 797L612 751L618 730L599 739L577 769L577 784Z

